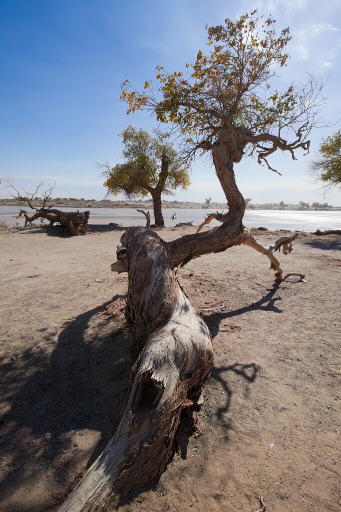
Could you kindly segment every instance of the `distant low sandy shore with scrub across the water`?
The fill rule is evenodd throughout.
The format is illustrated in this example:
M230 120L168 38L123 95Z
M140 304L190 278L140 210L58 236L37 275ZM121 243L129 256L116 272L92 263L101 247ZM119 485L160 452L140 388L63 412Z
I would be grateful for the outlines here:
M33 206L39 208L42 206L42 200L33 200ZM153 202L149 199L139 201L112 201L110 199L95 201L87 199L76 199L76 198L57 198L51 199L47 203L47 207L53 205L55 208L141 208L141 209L152 209ZM0 199L0 206L19 206L29 208L27 203L22 201L13 201L11 199ZM211 202L209 206L206 203L194 203L191 201L162 201L162 208L169 208L172 210L178 209L191 209L191 208L202 208L203 210L226 210L228 207L226 203ZM25 209L25 208L24 208ZM313 208L312 206L302 207L299 204L285 204L282 207L279 203L266 203L266 204L253 204L249 203L246 209L252 210L299 210L299 211L339 211L341 206L325 206L321 204L319 208Z

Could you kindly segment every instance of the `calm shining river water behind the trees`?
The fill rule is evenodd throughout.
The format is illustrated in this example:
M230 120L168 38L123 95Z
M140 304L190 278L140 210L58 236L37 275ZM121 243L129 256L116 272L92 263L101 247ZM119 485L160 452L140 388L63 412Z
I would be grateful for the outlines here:
M77 208L60 208L63 211L77 211ZM80 208L84 211L87 208ZM89 224L108 224L116 222L123 226L144 226L145 218L133 208L88 208L90 210ZM16 220L19 208L17 206L0 206L0 222L8 225L18 222L24 225L24 219ZM177 219L170 217L176 211ZM200 224L212 210L206 208L164 208L163 215L166 226L175 226L179 222L193 221ZM152 212L151 212L152 213ZM153 221L153 217L152 217ZM341 211L298 211L298 210L246 210L244 225L248 228L264 226L268 229L290 229L291 231L316 231L316 229L341 229ZM39 224L38 221L35 221ZM211 226L219 225L212 221Z

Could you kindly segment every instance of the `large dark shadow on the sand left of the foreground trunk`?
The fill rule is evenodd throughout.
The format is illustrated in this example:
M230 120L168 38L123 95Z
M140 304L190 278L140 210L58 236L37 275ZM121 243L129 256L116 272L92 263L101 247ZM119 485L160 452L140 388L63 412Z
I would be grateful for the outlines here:
M58 496L45 496L40 506L28 499L18 508L11 501L7 512L42 512L53 506L51 501L59 501L69 487L67 479L80 457L86 459L84 430L99 437L95 449L89 449L87 466L116 430L129 386L132 340L124 330L113 336L113 324L103 305L96 307L66 319L50 357L35 347L17 361L2 362L2 392L10 407L0 418L6 426L0 447L11 464L0 480L0 496L8 502L20 487L25 492L31 481L34 486L37 479L46 479L48 468L60 489ZM40 330L41 339L49 343L46 331Z

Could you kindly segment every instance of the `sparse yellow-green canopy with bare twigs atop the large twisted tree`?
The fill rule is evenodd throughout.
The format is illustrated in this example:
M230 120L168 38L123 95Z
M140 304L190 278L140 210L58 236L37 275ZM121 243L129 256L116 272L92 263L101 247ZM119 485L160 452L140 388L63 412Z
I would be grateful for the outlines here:
M289 29L275 34L275 20L257 10L236 22L206 27L208 50L199 50L189 73L168 74L156 68L156 87L146 81L143 92L126 80L121 99L127 113L149 110L156 119L173 123L184 136L189 156L210 150L219 140L228 147L233 162L239 162L246 146L259 163L280 149L291 153L309 150L307 136L319 122L324 99L322 83L309 77L306 84L291 83L277 89L278 67L286 66ZM284 138L290 137L291 142Z

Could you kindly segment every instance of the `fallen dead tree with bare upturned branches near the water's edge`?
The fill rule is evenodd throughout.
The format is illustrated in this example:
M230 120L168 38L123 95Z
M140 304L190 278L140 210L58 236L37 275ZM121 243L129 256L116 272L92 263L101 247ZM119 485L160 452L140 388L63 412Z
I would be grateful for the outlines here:
M37 219L40 219L43 222L44 219L49 221L50 227L54 224L60 224L63 226L67 233L71 236L76 236L78 234L85 234L90 231L90 228L87 226L90 211L61 211L59 209L53 208L53 204L48 204L48 201L51 198L52 191L54 190L56 183L53 185L49 185L45 181L40 180L38 185L36 186L33 193L29 193L26 190L22 190L20 192L15 186L12 178L9 178L7 181L7 188L10 191L10 199L14 202L27 203L28 206L33 210L33 212L28 212L24 208L20 208L19 217L25 218L25 227L28 224L33 224L33 222ZM43 192L39 192L39 189L46 185L48 188ZM33 204L33 200L37 197L37 194L41 195L42 198L42 206L36 207Z

